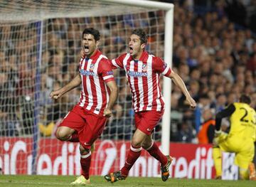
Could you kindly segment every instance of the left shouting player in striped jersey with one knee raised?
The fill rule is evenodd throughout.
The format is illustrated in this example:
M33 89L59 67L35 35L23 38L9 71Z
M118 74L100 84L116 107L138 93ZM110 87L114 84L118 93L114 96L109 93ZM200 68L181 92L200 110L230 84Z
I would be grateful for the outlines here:
M112 68L107 57L97 49L99 43L99 31L85 28L82 32L84 49L78 75L64 87L50 93L50 97L57 100L73 88L79 85L82 87L80 101L68 112L55 132L60 141L80 142L82 174L71 184L90 183L90 149L102 134L117 100L117 85Z

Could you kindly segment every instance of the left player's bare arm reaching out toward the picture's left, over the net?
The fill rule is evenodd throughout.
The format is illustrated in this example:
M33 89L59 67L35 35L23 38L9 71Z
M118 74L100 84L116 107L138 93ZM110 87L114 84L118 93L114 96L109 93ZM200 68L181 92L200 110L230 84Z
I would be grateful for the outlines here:
M80 75L75 76L75 78L73 78L73 80L71 80L68 85L65 85L63 87L61 87L59 90L55 90L53 92L50 92L50 98L53 98L55 100L57 100L58 98L60 98L63 94L65 94L65 92L68 92L70 90L72 90L74 87L77 87L78 85L80 85L82 82Z

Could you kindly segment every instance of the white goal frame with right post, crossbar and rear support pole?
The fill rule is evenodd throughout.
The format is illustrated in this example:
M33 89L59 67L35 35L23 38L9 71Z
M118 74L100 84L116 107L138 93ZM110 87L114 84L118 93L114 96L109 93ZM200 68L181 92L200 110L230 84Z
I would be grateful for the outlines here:
M172 66L172 50L173 50L173 30L174 30L174 4L163 3L158 1L148 1L148 0L98 0L97 2L102 2L102 4L107 3L111 5L127 5L136 6L143 9L152 10L163 10L165 12L165 28L164 28L164 61ZM114 14L114 11L112 12ZM98 14L97 14L98 15ZM68 16L68 15L67 15ZM71 14L73 16L73 14ZM102 16L102 15L101 15ZM48 17L47 17L48 18ZM33 112L33 141L32 141L32 174L36 174L36 159L38 154L38 141L40 139L38 135L38 122L39 122L39 102L40 102L40 86L41 86L41 61L43 52L43 24L44 20L47 19L39 16L38 18L32 19L36 23L36 33L37 33L37 60L36 60L36 80L35 80L35 92L34 92L34 112ZM20 21L17 19L16 21ZM1 20L0 20L1 22ZM14 22L15 23L15 22ZM165 97L166 109L162 119L161 128L161 149L164 154L169 154L170 145L170 125L171 125L171 80L169 78L164 78L163 93Z

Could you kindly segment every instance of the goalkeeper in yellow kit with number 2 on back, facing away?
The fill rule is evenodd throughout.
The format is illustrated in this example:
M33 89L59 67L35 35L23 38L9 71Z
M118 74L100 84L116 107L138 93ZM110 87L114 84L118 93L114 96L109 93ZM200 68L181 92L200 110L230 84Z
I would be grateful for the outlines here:
M240 179L256 180L255 166L252 163L255 154L256 113L255 109L250 107L250 102L250 97L241 95L239 102L234 102L216 115L213 139L215 178L221 178L221 151L227 151L235 153L235 164L239 166ZM228 134L220 129L224 117L230 117Z

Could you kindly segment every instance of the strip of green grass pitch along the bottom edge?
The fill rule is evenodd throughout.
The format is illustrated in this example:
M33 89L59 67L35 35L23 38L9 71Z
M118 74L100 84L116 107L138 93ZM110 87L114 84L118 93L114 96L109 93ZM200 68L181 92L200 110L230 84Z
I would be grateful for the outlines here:
M0 187L36 187L36 186L71 186L74 176L0 176ZM174 187L201 187L201 186L221 186L221 187L250 187L256 186L256 181L220 181L220 180L195 180L169 178L163 182L161 178L129 177L125 181L109 183L102 176L91 176L91 184L87 186L174 186ZM78 185L79 186L79 185Z

